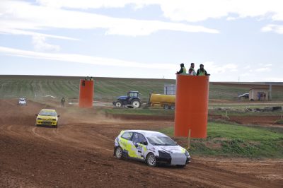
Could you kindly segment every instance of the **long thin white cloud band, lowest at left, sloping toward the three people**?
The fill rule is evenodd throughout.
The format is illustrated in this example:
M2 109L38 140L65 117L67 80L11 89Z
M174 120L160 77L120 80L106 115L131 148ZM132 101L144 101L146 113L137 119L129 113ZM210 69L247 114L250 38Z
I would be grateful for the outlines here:
M124 66L124 67L135 67L145 69L168 69L175 70L176 64L146 64L138 63L134 61L124 61L120 59L111 59L103 57L92 57L81 54L60 54L60 53L43 53L33 52L22 49L15 49L9 47L0 47L0 53L11 56L35 58L35 59L47 59L53 61L67 61L81 64L94 64L103 66Z

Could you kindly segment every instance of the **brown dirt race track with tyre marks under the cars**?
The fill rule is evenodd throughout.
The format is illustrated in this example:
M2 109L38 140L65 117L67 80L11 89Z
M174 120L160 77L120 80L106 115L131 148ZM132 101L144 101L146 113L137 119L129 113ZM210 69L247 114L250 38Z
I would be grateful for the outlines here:
M35 114L47 107L0 101L0 187L282 187L282 160L192 156L182 169L114 158L122 129L158 130L172 120L109 119L91 110L75 117L58 108L58 129L35 127Z

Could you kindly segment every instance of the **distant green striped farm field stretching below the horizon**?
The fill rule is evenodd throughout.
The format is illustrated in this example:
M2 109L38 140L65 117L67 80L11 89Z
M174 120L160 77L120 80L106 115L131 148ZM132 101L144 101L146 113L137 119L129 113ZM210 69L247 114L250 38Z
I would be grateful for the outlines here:
M81 77L62 76L0 76L0 98L30 98L40 100L46 95L67 99L79 98ZM175 84L168 79L95 78L95 100L112 101L128 90L138 90L141 100L147 102L149 93L163 93L164 84ZM248 93L256 84L210 83L210 100L238 101L238 93ZM266 87L266 86L265 86ZM274 86L273 100L283 101L283 86Z

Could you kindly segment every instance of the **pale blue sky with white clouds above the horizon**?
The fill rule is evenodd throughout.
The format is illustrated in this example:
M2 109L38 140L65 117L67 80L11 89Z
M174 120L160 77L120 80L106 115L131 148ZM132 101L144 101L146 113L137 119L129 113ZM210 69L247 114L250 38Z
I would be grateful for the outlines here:
M0 0L0 74L283 81L280 0Z

